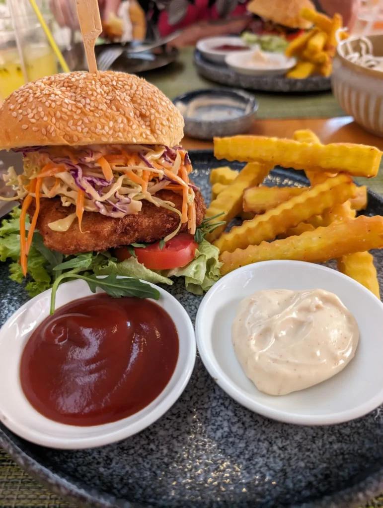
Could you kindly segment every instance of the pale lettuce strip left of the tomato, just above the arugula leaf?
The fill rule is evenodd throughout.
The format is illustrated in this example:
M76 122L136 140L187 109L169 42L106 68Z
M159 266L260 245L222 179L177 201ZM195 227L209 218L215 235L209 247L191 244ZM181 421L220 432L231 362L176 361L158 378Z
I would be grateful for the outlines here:
M121 263L107 260L103 264L93 267L97 275L124 275L125 277L135 277L137 279L145 280L146 282L153 282L154 284L173 284L169 278L161 275L159 272L145 268L141 263L138 263L136 258L129 258Z

